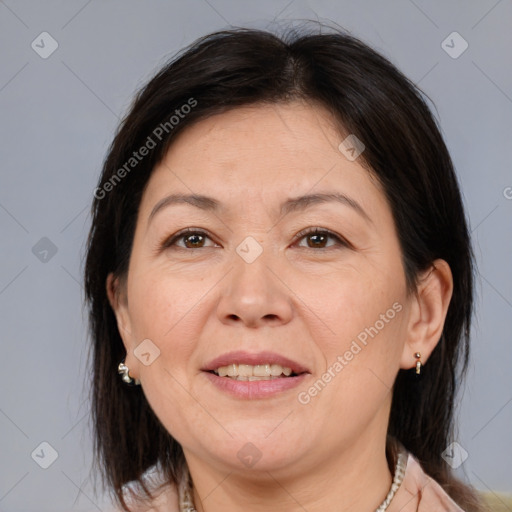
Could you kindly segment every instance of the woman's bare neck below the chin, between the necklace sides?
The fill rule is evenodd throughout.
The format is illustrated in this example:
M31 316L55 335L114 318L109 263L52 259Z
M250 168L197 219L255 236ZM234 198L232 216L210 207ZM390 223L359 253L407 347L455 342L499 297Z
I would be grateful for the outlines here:
M295 464L293 472L288 467L249 476L230 468L213 468L186 453L195 508L197 512L372 511L386 497L393 478L385 448L385 432L377 436L370 429L310 464Z

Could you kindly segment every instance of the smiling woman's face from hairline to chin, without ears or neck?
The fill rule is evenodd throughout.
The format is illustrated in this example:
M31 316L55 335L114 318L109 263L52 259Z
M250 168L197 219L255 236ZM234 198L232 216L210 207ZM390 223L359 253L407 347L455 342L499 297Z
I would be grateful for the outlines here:
M185 130L149 180L116 313L187 458L276 474L385 437L410 299L391 210L344 138L318 106L239 108Z

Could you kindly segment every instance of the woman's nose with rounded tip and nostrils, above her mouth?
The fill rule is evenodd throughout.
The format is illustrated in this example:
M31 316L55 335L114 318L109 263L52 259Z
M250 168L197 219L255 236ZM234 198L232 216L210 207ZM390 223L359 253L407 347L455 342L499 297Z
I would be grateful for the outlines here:
M263 253L248 263L233 256L231 272L222 280L217 315L225 324L256 328L288 323L293 316L293 292L279 275L278 263Z

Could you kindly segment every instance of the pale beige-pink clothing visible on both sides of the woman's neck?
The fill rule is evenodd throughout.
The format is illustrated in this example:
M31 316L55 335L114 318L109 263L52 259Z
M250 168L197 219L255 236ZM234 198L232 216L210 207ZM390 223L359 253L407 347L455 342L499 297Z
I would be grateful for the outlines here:
M167 487L153 507L133 507L134 512L179 512L178 492ZM248 511L250 512L250 511ZM368 511L372 512L372 511ZM404 479L387 512L464 512L409 453Z

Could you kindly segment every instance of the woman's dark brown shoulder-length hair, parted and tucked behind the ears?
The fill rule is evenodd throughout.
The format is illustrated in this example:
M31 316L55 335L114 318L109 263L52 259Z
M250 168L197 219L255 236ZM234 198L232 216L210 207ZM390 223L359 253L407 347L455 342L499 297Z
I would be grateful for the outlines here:
M481 510L471 487L456 480L441 457L454 440L454 398L467 368L473 308L473 255L452 161L417 87L358 39L322 32L325 27L281 36L233 29L199 39L138 92L110 146L92 206L85 292L95 454L103 481L125 510L124 484L137 482L148 493L142 475L152 466L176 483L185 461L142 389L127 387L117 373L125 349L106 295L107 276L126 276L143 191L182 130L240 106L294 99L323 105L341 132L365 144L360 160L385 191L409 292L436 258L450 265L454 289L441 339L420 380L399 371L388 433L462 508ZM149 153L131 160L144 146L151 146Z

